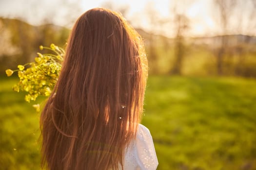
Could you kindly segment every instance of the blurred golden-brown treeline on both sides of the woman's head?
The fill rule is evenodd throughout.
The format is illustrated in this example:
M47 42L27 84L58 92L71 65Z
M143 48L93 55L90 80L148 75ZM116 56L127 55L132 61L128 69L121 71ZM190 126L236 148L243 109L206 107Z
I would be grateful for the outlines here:
M256 37L224 35L175 38L137 29L145 41L150 74L256 77ZM32 26L0 18L0 74L32 61L39 46L65 47L70 30L52 24Z

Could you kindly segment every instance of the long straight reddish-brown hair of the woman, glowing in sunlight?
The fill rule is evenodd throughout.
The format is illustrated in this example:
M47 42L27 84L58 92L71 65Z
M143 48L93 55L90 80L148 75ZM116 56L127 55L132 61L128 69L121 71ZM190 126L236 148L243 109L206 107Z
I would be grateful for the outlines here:
M81 15L40 117L42 167L122 166L143 111L147 71L142 39L119 13L95 8Z

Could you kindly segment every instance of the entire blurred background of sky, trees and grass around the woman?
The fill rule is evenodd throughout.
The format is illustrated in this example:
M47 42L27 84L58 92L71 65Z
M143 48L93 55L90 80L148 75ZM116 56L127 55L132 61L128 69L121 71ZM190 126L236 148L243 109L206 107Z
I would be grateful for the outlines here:
M158 170L256 170L256 0L0 0L0 170L39 170L39 114L7 68L65 47L86 10L119 11L149 60L142 124Z

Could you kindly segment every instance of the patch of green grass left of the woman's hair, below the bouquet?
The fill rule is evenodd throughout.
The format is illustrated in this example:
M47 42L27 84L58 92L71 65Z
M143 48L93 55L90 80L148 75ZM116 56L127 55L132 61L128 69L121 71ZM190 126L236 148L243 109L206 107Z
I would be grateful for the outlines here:
M39 114L12 90L18 81L0 77L0 170L39 170Z

